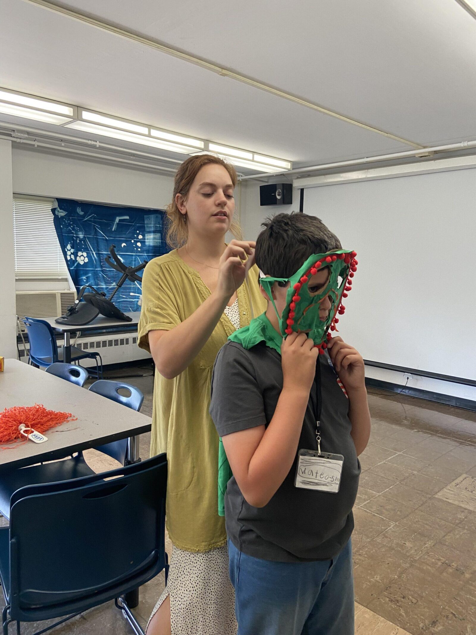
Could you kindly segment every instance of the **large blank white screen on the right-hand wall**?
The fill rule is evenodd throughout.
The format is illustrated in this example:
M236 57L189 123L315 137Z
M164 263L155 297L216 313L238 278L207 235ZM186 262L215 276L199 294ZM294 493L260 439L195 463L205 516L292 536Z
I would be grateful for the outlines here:
M310 187L359 267L340 335L364 359L476 379L476 170Z

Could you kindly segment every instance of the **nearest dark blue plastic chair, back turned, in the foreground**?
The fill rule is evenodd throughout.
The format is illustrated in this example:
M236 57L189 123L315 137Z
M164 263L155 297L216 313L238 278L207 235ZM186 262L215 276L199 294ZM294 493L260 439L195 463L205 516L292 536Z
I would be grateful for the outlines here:
M20 622L63 617L49 630L111 599L143 635L124 594L162 570L167 579L166 483L161 454L111 472L16 491L10 529L0 528L4 635L10 622L17 622L20 634Z

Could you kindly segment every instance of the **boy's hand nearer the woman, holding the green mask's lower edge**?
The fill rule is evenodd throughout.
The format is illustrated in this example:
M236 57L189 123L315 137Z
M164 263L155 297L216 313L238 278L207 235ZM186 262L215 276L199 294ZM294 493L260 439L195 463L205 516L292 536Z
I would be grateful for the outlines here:
M281 345L282 388L310 392L319 351L305 333L291 333Z

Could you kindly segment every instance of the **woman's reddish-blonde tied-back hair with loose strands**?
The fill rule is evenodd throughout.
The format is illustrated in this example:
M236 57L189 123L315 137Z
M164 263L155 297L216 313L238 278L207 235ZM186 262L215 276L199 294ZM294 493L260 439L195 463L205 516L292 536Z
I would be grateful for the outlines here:
M168 219L166 240L169 247L172 249L182 247L185 243L187 243L188 239L187 216L180 213L180 210L175 203L175 197L177 194L182 194L184 199L187 198L190 186L194 182L195 177L201 168L209 163L216 163L223 166L230 175L233 187L236 185L237 175L235 168L230 163L220 159L220 157L216 157L213 154L199 154L185 159L185 161L183 161L180 165L180 168L176 171L172 202L166 209ZM241 227L237 220L233 220L230 226L230 232L232 232L235 238L241 239Z

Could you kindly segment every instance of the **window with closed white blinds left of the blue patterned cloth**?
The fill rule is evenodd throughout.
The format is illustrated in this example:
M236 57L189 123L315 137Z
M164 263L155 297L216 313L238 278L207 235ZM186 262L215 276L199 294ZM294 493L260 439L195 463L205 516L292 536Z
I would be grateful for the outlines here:
M53 199L13 195L15 277L67 279L53 224Z

